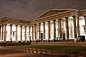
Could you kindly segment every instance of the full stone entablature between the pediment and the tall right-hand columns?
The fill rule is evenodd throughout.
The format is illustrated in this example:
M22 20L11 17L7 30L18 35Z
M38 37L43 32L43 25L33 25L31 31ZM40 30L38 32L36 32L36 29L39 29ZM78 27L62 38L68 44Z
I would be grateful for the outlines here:
M71 16L74 16L74 15L77 15L77 14L78 14L78 10L65 11L65 12L50 15L50 16L47 16L47 17L35 19L35 23L41 23L41 22L61 19L61 18L65 18L65 17L71 17Z

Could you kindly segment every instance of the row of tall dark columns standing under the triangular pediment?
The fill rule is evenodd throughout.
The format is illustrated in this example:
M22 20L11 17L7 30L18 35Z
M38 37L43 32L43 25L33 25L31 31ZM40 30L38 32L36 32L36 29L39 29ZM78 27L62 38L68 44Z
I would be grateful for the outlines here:
M76 16L72 16L73 17L73 23L74 23L74 38L77 38L77 33L76 33ZM68 17L65 18L66 19L66 36L67 36L67 40L69 40L69 26L68 26ZM55 24L56 20L53 20L54 23L54 39L56 38L56 24ZM79 19L78 19L78 24L79 24ZM86 24L86 22L85 22ZM41 23L39 23L39 39L40 38L40 25ZM36 38L36 26L37 24L35 24L35 39ZM62 38L62 30L61 30L61 19L58 20L58 36L60 35L60 38ZM79 25L77 25L77 29L78 29L78 36L80 35L80 30L79 30ZM60 33L60 34L59 34ZM45 22L43 22L43 37L45 39ZM48 21L48 39L50 39L50 21Z

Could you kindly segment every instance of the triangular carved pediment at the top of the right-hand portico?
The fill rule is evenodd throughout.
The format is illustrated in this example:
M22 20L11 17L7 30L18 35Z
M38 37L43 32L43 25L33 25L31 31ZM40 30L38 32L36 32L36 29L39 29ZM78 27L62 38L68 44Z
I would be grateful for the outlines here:
M55 14L59 14L59 13L71 11L71 10L75 10L75 9L50 9L45 13L41 14L40 16L38 16L36 19L40 19L43 17L47 17L47 16L51 16L51 15L55 15Z

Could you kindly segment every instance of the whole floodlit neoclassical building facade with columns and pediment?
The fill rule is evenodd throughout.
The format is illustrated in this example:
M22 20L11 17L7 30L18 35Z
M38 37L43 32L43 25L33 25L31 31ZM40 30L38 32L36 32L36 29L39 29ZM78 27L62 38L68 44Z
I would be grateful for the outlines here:
M0 19L0 32L4 42L77 39L86 36L86 10L50 9L33 22L5 17Z

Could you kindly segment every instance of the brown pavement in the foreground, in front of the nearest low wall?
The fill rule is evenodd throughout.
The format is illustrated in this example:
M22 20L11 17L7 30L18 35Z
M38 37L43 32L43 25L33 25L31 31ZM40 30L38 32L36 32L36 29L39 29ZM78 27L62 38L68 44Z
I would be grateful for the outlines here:
M27 53L27 52L18 52L0 49L0 57L65 57L65 56L43 55L37 53Z

